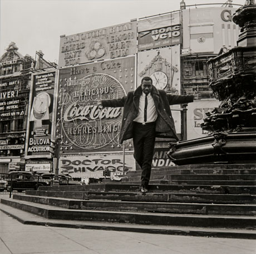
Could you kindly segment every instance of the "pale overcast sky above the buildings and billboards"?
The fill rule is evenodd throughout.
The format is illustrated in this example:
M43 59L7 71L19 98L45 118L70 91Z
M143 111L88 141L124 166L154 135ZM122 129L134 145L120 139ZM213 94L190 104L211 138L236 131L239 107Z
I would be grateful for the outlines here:
M58 63L60 35L115 26L180 9L181 0L0 0L0 56L9 43L18 52ZM186 6L227 0L184 0ZM244 4L245 0L233 0ZM209 7L209 6L204 6ZM234 6L235 7L235 6Z

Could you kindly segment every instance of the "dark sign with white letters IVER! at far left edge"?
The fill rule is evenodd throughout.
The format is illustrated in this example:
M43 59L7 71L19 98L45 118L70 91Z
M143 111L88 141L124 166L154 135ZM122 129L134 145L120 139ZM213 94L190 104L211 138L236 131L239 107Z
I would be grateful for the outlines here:
M0 118L1 120L23 117L26 108L26 98L21 96L23 85L18 79L0 80Z

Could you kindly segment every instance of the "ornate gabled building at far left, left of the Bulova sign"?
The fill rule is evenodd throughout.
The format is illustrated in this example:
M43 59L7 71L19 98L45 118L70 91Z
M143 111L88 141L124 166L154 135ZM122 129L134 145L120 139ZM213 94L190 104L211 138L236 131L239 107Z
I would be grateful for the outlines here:
M52 66L18 52L10 43L0 58L0 172L25 170L25 141L31 74Z

